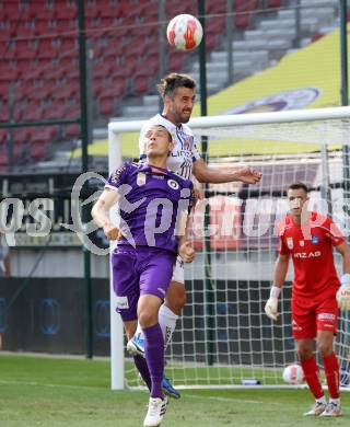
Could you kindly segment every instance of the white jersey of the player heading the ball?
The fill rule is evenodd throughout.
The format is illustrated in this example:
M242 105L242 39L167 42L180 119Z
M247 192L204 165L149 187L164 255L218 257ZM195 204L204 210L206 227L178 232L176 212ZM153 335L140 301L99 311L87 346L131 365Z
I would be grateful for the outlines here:
M167 158L167 169L186 180L190 180L194 162L200 159L200 154L198 153L197 147L195 145L194 134L189 126L185 124L176 126L172 122L164 118L161 114L156 114L154 117L150 118L142 126L140 131L140 159L143 160L145 158L144 135L154 125L164 126L172 134L173 140L175 142L174 149Z

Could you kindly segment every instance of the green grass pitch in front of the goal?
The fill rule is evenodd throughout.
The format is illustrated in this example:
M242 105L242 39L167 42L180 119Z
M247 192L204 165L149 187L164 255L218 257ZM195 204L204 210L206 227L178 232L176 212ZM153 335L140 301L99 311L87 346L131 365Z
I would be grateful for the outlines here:
M1 427L141 427L147 401L110 391L107 360L0 355ZM311 404L306 390L186 390L162 427L350 425L350 393L341 418L305 418Z

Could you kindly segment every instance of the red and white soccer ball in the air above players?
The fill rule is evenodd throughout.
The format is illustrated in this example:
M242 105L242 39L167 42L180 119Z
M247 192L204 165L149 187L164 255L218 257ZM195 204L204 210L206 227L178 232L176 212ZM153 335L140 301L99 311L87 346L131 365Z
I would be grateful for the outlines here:
M189 14L176 15L168 23L166 37L168 43L179 50L192 50L201 42L203 28L197 18Z

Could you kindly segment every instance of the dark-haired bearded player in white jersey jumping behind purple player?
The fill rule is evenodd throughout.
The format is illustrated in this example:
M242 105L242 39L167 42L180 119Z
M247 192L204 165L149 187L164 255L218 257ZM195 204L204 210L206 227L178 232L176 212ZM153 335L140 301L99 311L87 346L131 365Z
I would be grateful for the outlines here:
M186 125L192 113L196 99L196 82L191 77L172 72L161 80L158 90L162 96L164 108L162 114L156 114L149 119L141 129L139 139L141 160L145 158L144 136L152 126L162 125L172 134L175 142L167 160L167 169L178 175L185 178L190 178L194 175L200 183L211 184L233 181L256 184L260 181L261 173L247 166L232 166L232 170L210 168L198 153L194 134ZM171 341L176 321L186 303L184 282L184 263L180 257L177 257L165 302L159 312L159 323L164 334L165 347ZM142 355L143 342L141 328L138 327L136 335L128 342L129 353ZM170 384L167 379L164 379L163 388L167 394L179 397L179 393Z

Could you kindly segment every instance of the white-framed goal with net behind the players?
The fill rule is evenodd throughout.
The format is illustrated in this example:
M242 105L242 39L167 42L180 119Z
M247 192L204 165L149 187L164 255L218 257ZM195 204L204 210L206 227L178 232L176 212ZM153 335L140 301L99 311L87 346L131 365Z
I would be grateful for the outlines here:
M258 185L208 185L192 214L196 259L185 267L187 304L166 350L175 386L283 386L282 369L298 361L291 332L290 265L281 316L264 312L278 253L277 223L287 215L285 188L304 182L312 210L328 214L349 235L350 107L199 117L189 123L212 168L240 163L262 172ZM143 122L109 123L109 168L137 157ZM133 132L133 134L128 134ZM335 253L338 274L341 259ZM124 349L121 322L112 319L112 386L140 386ZM336 353L342 385L350 359L350 319L339 313ZM322 367L322 360L318 359ZM124 373L122 373L124 372Z

